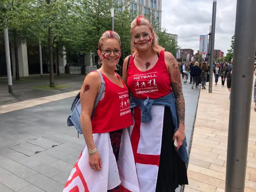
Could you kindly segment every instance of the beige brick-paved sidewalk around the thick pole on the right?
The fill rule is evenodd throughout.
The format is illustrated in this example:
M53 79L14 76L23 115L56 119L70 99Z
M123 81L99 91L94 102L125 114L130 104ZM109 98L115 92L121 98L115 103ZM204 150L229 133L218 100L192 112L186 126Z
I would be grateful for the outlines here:
M220 80L219 80L220 81ZM185 192L224 192L228 142L229 92L213 85L201 90ZM256 113L252 99L245 192L256 192Z

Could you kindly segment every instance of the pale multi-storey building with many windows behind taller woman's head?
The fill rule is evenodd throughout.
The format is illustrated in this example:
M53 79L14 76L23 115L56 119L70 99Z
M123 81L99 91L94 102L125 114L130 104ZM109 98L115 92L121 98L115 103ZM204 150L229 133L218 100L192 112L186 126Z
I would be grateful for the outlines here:
M118 0L118 4L124 4L118 11L127 8L134 13L134 17L138 15L150 16L148 18L150 22L161 28L162 0Z

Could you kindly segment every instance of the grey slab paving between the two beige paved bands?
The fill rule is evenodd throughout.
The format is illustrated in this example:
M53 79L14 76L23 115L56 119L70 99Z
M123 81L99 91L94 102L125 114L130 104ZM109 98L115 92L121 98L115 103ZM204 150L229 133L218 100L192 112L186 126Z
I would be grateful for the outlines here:
M183 84L183 92L189 146L200 89ZM19 192L62 191L84 148L84 138L77 138L75 128L66 125L73 99L0 114L0 168L7 171L2 170L2 177L14 174L30 183Z

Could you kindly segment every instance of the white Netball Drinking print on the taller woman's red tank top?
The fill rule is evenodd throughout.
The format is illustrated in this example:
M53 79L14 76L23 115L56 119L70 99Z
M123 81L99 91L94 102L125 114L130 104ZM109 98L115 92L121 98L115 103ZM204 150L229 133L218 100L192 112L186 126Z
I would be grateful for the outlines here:
M133 75L134 89L136 95L147 94L152 92L158 92L158 86L156 82L156 72L148 72L146 74L135 74Z

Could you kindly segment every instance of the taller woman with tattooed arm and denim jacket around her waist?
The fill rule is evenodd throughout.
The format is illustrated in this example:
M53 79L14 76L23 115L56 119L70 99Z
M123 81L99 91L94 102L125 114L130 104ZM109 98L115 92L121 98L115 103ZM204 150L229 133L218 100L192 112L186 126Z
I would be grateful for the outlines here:
M131 96L129 132L140 192L174 192L188 184L180 68L144 16L132 21L131 36L133 54L124 60L123 80Z

